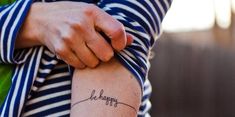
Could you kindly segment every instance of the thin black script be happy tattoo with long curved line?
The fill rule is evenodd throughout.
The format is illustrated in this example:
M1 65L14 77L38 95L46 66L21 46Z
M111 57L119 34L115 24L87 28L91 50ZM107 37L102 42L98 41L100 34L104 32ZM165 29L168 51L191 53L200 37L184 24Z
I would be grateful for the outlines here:
M100 90L99 95L96 95L96 90L92 90L91 95L90 95L89 98L74 103L72 105L72 107L74 107L74 106L76 106L76 105L78 105L78 104L80 104L82 102L86 102L86 101L98 101L98 100L105 101L105 105L112 106L114 108L117 108L118 105L128 106L128 107L132 108L137 113L137 110L133 106L131 106L129 104L126 104L124 102L119 102L117 98L105 96L103 89Z

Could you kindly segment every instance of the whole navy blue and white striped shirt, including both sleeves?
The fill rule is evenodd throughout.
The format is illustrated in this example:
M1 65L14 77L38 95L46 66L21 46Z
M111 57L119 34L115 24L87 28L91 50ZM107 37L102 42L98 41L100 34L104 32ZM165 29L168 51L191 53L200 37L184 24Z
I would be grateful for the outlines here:
M38 0L39 1L39 0ZM55 2L59 0L41 0ZM119 20L134 42L116 58L142 87L139 117L147 117L151 107L151 85L147 79L149 53L161 34L161 22L171 0L71 0L94 3ZM15 39L32 0L18 0L0 7L0 63L14 64L12 86L1 105L1 117L69 116L71 100L70 67L46 47L15 50Z

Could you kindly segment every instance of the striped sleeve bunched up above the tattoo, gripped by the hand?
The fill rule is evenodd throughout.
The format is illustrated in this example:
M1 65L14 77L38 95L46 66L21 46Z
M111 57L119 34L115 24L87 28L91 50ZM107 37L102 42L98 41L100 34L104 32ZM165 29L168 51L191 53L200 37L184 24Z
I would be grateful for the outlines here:
M98 6L119 20L134 42L117 58L137 78L142 89L149 70L149 54L161 34L161 22L172 0L101 0Z

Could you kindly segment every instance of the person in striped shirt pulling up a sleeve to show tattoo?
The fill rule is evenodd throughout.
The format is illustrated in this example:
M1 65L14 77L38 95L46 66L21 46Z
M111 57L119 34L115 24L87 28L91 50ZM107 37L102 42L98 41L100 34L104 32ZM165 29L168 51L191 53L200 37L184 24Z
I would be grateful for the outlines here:
M148 116L148 57L170 3L19 0L2 6L1 62L15 68L1 116Z

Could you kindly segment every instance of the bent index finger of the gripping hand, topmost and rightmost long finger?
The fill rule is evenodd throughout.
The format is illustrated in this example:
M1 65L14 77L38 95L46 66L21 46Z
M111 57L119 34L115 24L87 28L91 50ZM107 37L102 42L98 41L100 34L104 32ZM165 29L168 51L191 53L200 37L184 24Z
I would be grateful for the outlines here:
M124 49L127 43L124 26L102 10L97 10L95 14L95 28L104 32L111 39L111 45L115 50Z

